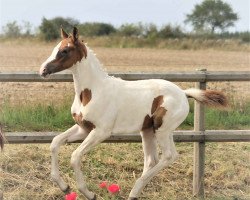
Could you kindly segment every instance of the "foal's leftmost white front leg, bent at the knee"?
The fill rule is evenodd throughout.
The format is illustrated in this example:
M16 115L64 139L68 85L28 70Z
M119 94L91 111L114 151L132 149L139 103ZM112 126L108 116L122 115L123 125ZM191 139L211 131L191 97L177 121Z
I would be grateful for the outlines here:
M60 135L53 138L50 145L51 150L51 178L57 183L59 188L65 193L70 193L70 187L59 174L59 164L58 164L58 153L59 148L66 142L73 142L77 140L82 140L87 137L87 132L84 131L77 124L72 126L70 129L61 133Z

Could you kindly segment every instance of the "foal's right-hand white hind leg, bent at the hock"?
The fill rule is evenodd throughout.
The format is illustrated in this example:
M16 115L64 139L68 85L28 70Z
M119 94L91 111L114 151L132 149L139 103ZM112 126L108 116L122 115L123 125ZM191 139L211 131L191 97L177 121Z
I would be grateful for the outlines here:
M154 167L145 171L145 173L136 180L135 185L129 194L129 200L138 199L138 196L149 181L157 175L160 170L172 164L178 156L172 132L156 131L155 134L159 147L162 150L161 158Z

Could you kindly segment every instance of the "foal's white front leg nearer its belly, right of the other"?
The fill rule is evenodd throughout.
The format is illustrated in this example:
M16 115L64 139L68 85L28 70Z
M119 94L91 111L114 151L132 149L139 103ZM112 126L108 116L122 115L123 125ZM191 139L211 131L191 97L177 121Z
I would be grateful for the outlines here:
M110 131L96 128L89 133L82 144L72 153L71 165L75 171L77 187L88 200L95 200L96 195L88 190L84 181L83 173L81 172L81 157L83 154L88 153L93 147L110 137L110 135Z

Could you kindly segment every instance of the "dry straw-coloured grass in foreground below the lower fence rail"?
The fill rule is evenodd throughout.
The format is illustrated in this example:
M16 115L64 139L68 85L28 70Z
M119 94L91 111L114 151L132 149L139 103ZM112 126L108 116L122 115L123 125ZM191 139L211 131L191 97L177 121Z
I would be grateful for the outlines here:
M180 158L160 172L143 192L142 199L193 199L192 145L178 144ZM75 189L70 154L76 148L61 148L63 177ZM6 200L63 199L50 180L48 145L7 145L0 162L3 166L2 188ZM227 152L225 154L225 152ZM239 153L240 152L240 153ZM246 143L210 143L206 148L205 188L207 199L248 199L249 153ZM103 180L118 183L122 190L115 199L126 199L143 167L140 144L101 144L82 160L82 170L90 189L99 199L110 199L98 188ZM106 197L105 197L106 196Z

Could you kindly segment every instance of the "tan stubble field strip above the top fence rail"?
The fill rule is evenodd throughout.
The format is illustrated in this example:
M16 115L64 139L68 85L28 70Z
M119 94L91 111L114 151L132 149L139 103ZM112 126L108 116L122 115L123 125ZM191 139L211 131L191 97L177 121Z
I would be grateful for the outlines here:
M51 44L0 44L0 71L37 71ZM250 52L93 48L108 71L246 71Z

